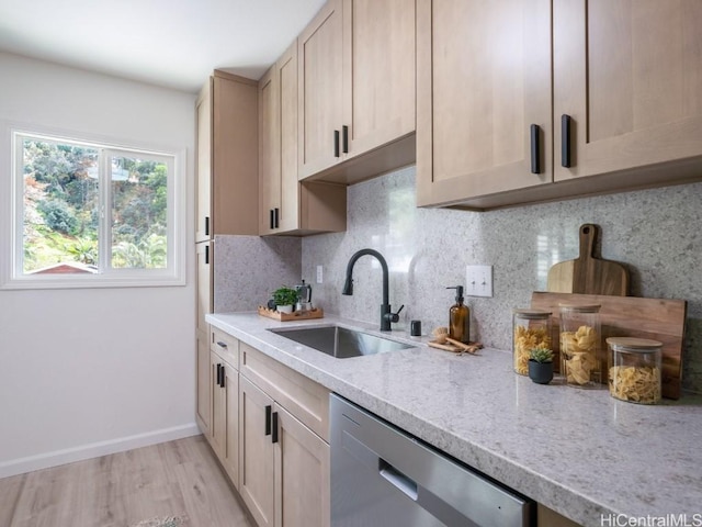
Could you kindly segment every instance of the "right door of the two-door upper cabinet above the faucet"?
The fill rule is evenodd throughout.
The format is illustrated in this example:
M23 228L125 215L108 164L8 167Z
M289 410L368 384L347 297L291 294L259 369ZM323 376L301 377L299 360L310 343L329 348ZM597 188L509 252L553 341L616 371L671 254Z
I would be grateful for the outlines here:
M415 0L352 0L343 20L349 156L415 131Z

